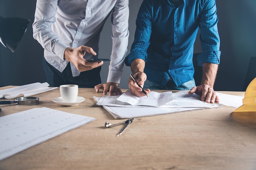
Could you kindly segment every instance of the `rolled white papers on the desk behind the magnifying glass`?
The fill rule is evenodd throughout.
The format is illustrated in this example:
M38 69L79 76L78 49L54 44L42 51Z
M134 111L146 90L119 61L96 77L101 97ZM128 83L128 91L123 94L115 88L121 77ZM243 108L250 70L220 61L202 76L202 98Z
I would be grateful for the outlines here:
M0 90L0 98L4 97L6 99L14 99L18 97L29 97L32 95L37 95L39 93L54 90L57 88L57 87L50 88L48 86L49 84L47 82L45 83L37 82L37 83L26 84L18 87L7 88L4 90Z

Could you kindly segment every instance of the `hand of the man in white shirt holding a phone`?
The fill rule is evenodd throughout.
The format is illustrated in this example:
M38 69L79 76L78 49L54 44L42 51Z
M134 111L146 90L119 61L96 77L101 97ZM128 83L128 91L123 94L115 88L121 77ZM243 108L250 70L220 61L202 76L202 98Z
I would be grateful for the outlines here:
M67 49L65 49L64 59L72 62L77 70L81 72L92 70L93 68L99 67L103 64L103 62L88 62L87 60L83 59L83 56L86 52L92 55L97 55L96 52L88 46L79 46L76 49L68 47Z

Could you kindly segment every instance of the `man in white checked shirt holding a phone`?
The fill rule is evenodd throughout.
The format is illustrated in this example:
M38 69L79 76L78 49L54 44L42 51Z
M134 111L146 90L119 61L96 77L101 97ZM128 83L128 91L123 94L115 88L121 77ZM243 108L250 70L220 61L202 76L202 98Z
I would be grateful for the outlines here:
M118 87L128 46L128 0L37 0L33 37L44 48L43 67L50 86L78 84L121 94ZM99 38L111 15L112 53L108 79L101 84L103 62L98 58Z

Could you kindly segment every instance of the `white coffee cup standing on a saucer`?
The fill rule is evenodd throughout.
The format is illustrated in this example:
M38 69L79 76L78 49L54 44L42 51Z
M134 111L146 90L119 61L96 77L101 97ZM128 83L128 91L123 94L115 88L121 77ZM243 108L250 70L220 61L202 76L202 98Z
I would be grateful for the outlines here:
M65 84L60 86L61 99L63 102L74 103L78 95L78 85Z

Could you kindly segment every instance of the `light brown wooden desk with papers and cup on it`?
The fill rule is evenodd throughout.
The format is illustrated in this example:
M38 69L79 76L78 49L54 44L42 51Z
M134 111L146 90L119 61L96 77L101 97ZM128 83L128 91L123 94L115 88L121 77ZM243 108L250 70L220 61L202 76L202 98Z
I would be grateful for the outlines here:
M60 96L56 89L36 95L37 105L0 106L0 116L48 107L96 118L0 161L0 170L256 170L255 113L231 114L234 108L223 106L135 118L116 137L123 126L104 124L123 120L97 106L94 95L102 93L79 88L85 101L65 107L52 102Z

